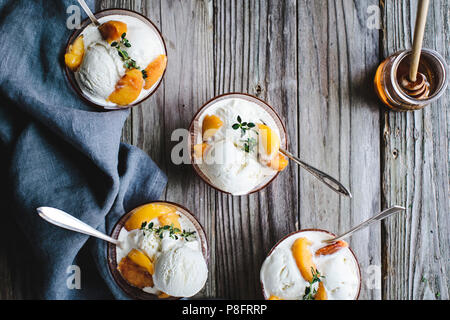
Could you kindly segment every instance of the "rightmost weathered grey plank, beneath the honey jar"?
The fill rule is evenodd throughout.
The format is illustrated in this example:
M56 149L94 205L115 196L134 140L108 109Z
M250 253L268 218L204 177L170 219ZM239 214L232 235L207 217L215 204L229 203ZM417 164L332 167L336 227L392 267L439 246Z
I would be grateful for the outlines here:
M417 1L386 1L384 55L411 47ZM431 1L424 47L450 61L450 6ZM423 111L385 111L383 206L407 217L383 227L386 299L449 299L449 90Z

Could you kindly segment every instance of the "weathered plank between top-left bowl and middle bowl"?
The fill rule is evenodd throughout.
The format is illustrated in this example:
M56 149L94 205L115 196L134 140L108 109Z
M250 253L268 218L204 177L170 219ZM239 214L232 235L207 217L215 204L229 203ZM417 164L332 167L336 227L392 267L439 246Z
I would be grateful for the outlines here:
M212 6L208 1L162 1L162 32L169 46L170 65L164 87L164 141L169 184L166 199L191 209L205 228L210 265L205 296L215 296L217 284L215 194L194 176L190 165L176 166L170 159L175 129L189 127L198 108L213 94Z

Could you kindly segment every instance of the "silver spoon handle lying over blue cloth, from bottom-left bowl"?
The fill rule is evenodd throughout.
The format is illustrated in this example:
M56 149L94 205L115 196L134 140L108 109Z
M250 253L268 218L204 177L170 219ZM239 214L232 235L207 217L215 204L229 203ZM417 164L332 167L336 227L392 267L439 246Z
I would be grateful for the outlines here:
M47 220L48 222L54 224L55 226L87 234L88 236L93 236L105 241L108 241L119 248L122 247L122 242L119 240L116 240L114 238L111 238L110 236L107 236L106 234L92 228L90 225L87 225L81 220L78 220L74 216L71 216L70 214L59 210L55 208L50 207L40 207L37 208L36 211L38 214L43 218L44 220Z

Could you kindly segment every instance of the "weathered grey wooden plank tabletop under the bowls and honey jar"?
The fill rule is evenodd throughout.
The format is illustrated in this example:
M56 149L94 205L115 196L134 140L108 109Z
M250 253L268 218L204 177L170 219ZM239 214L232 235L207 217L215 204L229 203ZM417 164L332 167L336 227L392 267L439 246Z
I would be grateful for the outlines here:
M397 113L381 105L372 85L384 57L411 47L416 1L97 1L97 10L112 7L149 17L167 44L163 84L132 110L124 141L167 173L162 199L191 209L207 232L210 274L200 297L259 299L259 269L283 236L302 228L340 233L398 204L406 215L350 240L361 265L360 299L449 299L450 90L423 111ZM424 40L447 62L449 16L448 1L431 1ZM173 130L227 92L271 104L290 149L337 177L353 199L293 164L245 197L218 193L191 166L172 164ZM30 297L18 246L1 245L0 298Z

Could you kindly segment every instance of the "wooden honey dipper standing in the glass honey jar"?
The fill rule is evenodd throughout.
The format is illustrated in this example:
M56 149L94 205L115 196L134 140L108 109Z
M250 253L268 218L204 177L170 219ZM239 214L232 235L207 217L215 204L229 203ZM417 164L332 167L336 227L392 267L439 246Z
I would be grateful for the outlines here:
M418 72L429 4L430 0L419 1L409 74L404 74L400 78L403 91L415 99L426 99L430 94L430 83L426 75Z

